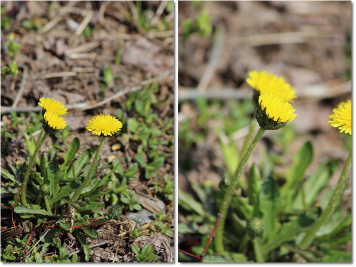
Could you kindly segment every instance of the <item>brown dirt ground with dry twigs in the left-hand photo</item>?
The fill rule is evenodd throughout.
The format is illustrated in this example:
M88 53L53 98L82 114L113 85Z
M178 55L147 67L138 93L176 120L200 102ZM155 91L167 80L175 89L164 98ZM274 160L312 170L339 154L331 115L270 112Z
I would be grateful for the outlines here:
M164 21L170 27L168 30L143 29L138 22L141 14L135 2L2 1L1 5L5 8L2 16L11 18L11 23L8 29L1 32L1 65L10 62L6 41L9 40L11 32L14 34L15 42L22 45L20 52L15 56L19 74L15 78L8 76L1 81L2 129L11 128L10 109L15 109L18 114L39 112L41 110L38 106L39 98L51 97L69 109L66 121L70 125L70 131L75 135L69 137L68 142L78 137L81 144L80 153L88 147L99 145L99 138L85 130L86 123L93 115L100 113L117 115L116 109L124 109L130 91L142 90L152 82L158 84L160 88L155 97L166 103L154 106L153 112L158 114L159 119L172 118L173 16L166 12L166 6L161 4L160 1L144 2L142 10L151 8L149 15L156 20L155 25L158 25L157 21ZM133 18L132 21L127 20L129 15ZM103 70L106 66L111 69L113 80L103 89ZM23 75L25 70L27 75ZM137 114L127 112L124 116L135 117ZM26 119L26 115L21 119ZM35 139L38 133L35 133ZM134 143L132 148L128 146L113 148L117 144L114 137L107 139L101 153L103 162L113 157L123 157L126 153L132 157L135 155L137 145ZM12 151L8 156L2 156L2 168L7 169L9 163L16 161L24 162L28 156L25 147L21 132L11 140L2 140L2 149L11 148ZM159 175L156 178L145 179L141 174L139 180L128 182L129 189L142 190L144 197L138 198L139 202L140 199L144 202L147 197L152 196L154 180L163 181L165 175L173 180L172 149L166 146L160 150L169 156L159 169ZM127 170L128 163L123 168ZM164 199L164 202L167 208L165 215L173 218L173 201ZM132 230L135 223L128 223L125 215L123 212L119 221L99 227L100 238L92 243L94 245L90 261L132 260L132 252L125 254L128 245L127 235L123 235L122 232ZM170 224L173 230L173 219ZM147 241L152 238L153 241ZM146 240L138 242L142 244L160 242L157 244L163 244L162 247L166 248L166 251L163 251L166 256L160 260L172 261L173 235L165 236L163 239L157 233L157 236L151 235L146 237ZM69 250L72 254L78 253L75 248L72 249L73 251Z

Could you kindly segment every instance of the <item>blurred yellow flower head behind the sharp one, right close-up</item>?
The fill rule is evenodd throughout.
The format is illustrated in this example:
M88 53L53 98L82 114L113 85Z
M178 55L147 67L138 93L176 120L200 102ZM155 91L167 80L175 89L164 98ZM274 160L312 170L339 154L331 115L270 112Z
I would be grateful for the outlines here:
M283 77L256 71L249 72L248 76L246 82L256 90L256 99L260 93L266 91L271 91L288 102L293 102L293 99L296 98L296 90Z

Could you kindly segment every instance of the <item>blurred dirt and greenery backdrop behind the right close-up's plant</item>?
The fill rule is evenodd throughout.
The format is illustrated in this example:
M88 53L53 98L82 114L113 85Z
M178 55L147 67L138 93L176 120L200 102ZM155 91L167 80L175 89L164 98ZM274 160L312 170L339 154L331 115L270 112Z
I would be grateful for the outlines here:
M283 76L297 91L297 117L265 133L245 170L253 162L261 170L274 168L282 184L293 156L310 141L306 177L321 163L339 162L320 188L319 203L327 199L351 149L351 137L328 124L333 109L351 99L351 2L184 1L178 8L179 246L189 251L209 235L218 212L214 194L236 169L234 154L254 112L245 82L249 71ZM345 213L351 210L350 185L351 179ZM197 212L193 201L202 203L201 216L191 215ZM350 241L344 245L350 251Z

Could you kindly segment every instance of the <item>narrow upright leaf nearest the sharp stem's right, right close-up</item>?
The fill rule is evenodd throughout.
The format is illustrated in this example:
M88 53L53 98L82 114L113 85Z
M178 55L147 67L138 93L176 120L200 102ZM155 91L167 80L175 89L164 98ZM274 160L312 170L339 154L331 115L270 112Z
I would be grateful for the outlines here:
M258 173L255 164L253 163L248 173L247 196L249 203L253 206L253 217L262 218L260 211L260 191L261 177Z

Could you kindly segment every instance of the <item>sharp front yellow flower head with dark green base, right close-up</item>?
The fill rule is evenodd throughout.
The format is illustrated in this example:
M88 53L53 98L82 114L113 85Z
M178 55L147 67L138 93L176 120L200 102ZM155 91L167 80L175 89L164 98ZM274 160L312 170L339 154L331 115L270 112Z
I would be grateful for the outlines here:
M271 92L262 92L258 97L256 120L265 130L277 130L288 121L294 120L297 116L295 111L282 97Z

